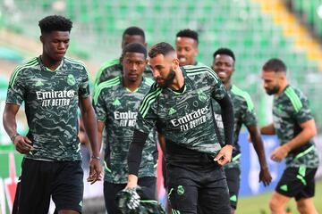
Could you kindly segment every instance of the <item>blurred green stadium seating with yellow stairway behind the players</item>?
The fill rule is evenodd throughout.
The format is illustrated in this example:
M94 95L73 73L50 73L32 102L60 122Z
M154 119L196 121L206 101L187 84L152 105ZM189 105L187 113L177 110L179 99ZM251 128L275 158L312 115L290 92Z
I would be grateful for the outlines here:
M95 62L104 62L119 55L123 29L130 25L146 30L148 45L159 41L174 43L174 35L179 29L196 29L200 35L200 62L210 65L212 53L219 46L228 46L236 53L234 81L249 90L258 101L260 123L266 120L267 102L261 98L264 94L258 74L268 58L284 59L292 81L295 85L302 85L304 91L310 93L321 89L317 84L311 84L321 76L318 72L322 70L322 63L318 61L322 55L320 46L305 34L306 29L299 21L292 19L292 14L281 5L283 1L233 0L233 4L225 1L214 4L212 0L197 4L193 0L184 4L173 4L171 0L8 2L12 3L5 4L4 1L0 4L4 26L35 39L38 38L38 26L31 23L37 23L40 17L48 13L70 17L75 26L70 53ZM292 2L301 10L312 10L317 6L317 1ZM276 16L276 12L282 16ZM307 13L317 16L315 12ZM307 38L296 37L299 32ZM315 49L312 49L312 44ZM310 100L317 100L315 98L310 97ZM317 109L318 104L319 101L312 103L313 109ZM322 120L322 116L317 117L318 121Z

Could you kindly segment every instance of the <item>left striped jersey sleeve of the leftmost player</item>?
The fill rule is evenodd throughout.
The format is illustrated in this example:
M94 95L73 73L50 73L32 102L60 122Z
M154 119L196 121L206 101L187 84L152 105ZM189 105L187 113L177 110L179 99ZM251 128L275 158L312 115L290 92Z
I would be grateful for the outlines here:
M13 70L13 74L9 81L6 103L21 105L27 92L24 83L23 70L19 70L19 67L17 67Z

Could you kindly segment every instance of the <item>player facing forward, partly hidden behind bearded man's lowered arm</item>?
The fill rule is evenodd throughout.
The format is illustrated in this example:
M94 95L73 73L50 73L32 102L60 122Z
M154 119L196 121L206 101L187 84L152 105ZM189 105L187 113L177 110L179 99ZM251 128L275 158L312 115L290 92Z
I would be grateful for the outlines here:
M142 77L148 62L144 45L126 45L120 62L123 75L99 84L94 97L98 142L101 142L103 129L106 128L104 197L109 214L119 213L115 195L126 186L127 155L140 102L153 83L152 79ZM157 138L156 132L151 130L143 149L139 170L139 185L144 194L142 199L156 200L156 166Z

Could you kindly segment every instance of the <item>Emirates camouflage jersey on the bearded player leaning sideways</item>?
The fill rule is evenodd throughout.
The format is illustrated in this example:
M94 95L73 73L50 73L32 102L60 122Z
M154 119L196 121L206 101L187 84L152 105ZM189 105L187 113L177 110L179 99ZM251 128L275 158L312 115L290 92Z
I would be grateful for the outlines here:
M215 156L221 149L214 128L210 102L227 95L224 85L206 66L181 67L182 93L155 83L140 105L137 129L148 133L153 127L166 141Z

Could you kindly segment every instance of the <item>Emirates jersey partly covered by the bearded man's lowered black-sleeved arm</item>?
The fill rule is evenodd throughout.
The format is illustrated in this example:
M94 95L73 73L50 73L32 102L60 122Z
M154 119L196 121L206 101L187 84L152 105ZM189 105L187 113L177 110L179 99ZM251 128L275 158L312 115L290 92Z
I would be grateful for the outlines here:
M123 86L123 78L116 77L97 86L94 96L97 119L106 124L105 180L114 184L127 183L129 152L140 102L148 93L153 80L143 78L140 87L131 92ZM157 138L151 130L144 145L139 177L156 177Z

